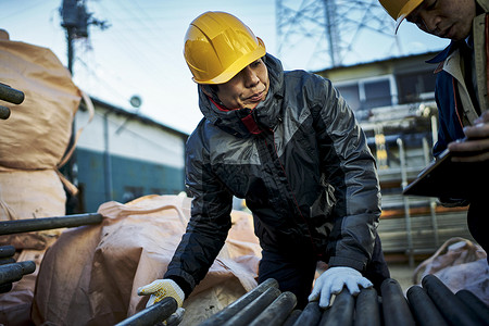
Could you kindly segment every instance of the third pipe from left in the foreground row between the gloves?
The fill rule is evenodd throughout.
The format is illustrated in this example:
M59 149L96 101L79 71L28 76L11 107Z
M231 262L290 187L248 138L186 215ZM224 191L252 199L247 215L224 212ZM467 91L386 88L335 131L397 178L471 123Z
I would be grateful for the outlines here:
M292 312L296 304L296 294L289 291L283 292L249 325L280 326Z

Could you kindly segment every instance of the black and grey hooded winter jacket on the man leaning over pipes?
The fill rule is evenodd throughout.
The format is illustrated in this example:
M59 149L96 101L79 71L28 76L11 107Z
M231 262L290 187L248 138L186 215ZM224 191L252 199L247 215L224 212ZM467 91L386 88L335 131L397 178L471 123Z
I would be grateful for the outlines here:
M313 254L363 271L380 215L374 158L352 111L331 83L284 72L265 57L266 99L223 110L200 90L204 118L187 142L191 218L168 265L188 296L231 227L233 196L253 212L263 249Z

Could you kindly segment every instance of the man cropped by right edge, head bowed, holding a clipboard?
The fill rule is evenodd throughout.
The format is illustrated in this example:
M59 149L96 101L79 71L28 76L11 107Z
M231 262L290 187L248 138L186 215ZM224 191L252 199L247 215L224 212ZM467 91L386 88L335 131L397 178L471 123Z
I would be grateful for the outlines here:
M489 170L489 1L488 0L379 0L397 21L405 18L425 33L451 39L430 63L437 64L435 96L439 131L434 154L450 150L454 161L486 162ZM487 188L489 171L473 180ZM477 188L477 186L473 186ZM467 222L474 239L489 250L487 191L469 200L442 198L449 205L469 203Z

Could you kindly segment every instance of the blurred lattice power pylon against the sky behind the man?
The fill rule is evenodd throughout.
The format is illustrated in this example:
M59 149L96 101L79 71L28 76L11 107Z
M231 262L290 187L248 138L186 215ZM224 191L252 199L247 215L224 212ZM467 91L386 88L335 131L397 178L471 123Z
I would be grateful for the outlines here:
M278 55L286 62L301 58L302 68L365 62L373 59L367 50L374 59L392 57L396 48L402 53L393 21L378 0L276 0L276 22Z

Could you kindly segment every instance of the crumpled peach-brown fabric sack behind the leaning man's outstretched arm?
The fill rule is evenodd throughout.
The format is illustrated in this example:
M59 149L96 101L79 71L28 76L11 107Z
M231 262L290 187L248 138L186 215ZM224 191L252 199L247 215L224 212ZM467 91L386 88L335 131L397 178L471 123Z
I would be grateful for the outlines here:
M101 225L68 229L42 261L33 319L37 325L113 325L145 309L137 289L161 278L190 217L190 199L147 196L108 202ZM256 286L261 249L250 214L233 227L206 277L184 302L181 325L196 325Z

